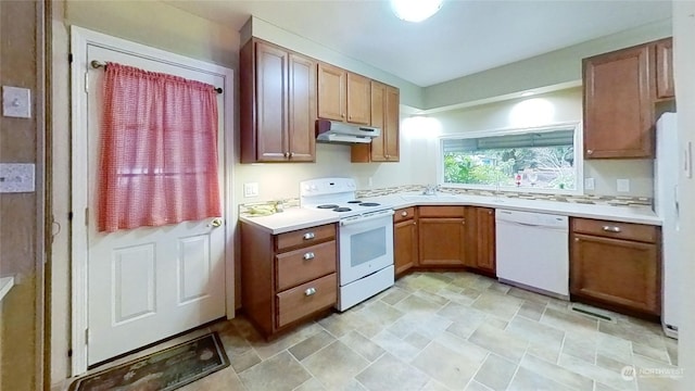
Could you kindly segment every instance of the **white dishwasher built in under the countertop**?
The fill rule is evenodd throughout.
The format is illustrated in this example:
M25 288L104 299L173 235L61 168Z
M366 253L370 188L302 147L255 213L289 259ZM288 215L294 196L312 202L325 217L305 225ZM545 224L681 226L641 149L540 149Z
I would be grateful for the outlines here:
M569 299L568 218L496 210L497 278Z

